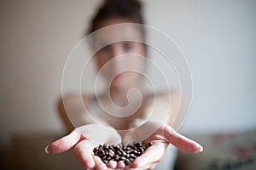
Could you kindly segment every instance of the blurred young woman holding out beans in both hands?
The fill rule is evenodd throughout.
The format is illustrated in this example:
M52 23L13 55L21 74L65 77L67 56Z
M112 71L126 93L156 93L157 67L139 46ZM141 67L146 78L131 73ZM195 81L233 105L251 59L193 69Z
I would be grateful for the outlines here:
M170 126L173 121L172 116L160 124L151 120L147 122L148 114L151 114L148 111L153 101L157 101L157 105L154 105L154 114L162 112L162 108L166 106L171 108L170 115L172 112L177 112L178 95L170 93L152 95L143 90L140 82L141 74L136 71L142 71L145 65L141 56L147 57L147 46L141 42L146 33L143 27L138 29L132 24L119 27L120 24L125 23L143 25L141 4L137 0L107 0L97 11L91 22L89 33L106 26L117 26L106 32L96 33L92 40L92 48L103 46L96 52L95 60L98 71L102 70L102 77L110 86L104 93L94 97L84 95L82 97L83 104L79 103L81 99L79 95L68 95L61 99L59 110L67 129L72 132L49 144L45 149L47 153L59 154L74 147L75 155L88 169L153 169L156 163L163 159L169 144L191 153L202 151L200 144L183 137L172 129ZM131 39L136 37L138 41L108 43L112 42L114 38L122 39L123 37L131 37ZM107 45L102 45L104 43ZM135 71L124 71L124 67L127 70ZM134 88L140 90L142 99L136 95L135 97L131 95L130 100L127 99L126 94ZM170 95L172 96L171 105L169 105ZM138 108L137 103L140 103ZM84 114L84 105L87 108L86 114ZM127 105L129 107L125 107ZM132 108L137 109L133 110ZM157 119L157 116L155 118ZM95 120L97 121L95 122ZM92 133L96 133L97 128L101 129L98 124L115 129L116 133L102 139L104 142L132 142L132 140L142 137L140 134L147 134L150 129L154 129L153 133L148 133L148 136L145 135L143 139L145 144L148 144L149 141L153 141L154 144L128 166L125 166L124 161L109 161L107 166L98 156L94 156L92 151L96 144L91 141L90 136ZM141 124L143 126L138 127ZM84 126L85 133L79 133L77 129L80 126ZM126 131L132 127L137 128Z

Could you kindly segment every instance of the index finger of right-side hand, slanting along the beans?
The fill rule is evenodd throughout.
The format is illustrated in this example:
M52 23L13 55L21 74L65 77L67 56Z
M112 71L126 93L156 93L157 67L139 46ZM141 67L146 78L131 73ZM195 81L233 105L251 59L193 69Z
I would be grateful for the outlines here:
M146 167L152 163L160 161L165 155L167 143L158 142L150 146L142 156L138 156L134 161L131 162L131 168Z

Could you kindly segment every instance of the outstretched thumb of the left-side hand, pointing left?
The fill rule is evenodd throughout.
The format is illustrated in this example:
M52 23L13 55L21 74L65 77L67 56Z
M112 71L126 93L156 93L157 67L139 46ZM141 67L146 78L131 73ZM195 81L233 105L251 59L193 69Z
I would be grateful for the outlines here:
M76 130L73 130L73 132L69 133L67 136L64 136L63 138L58 139L52 144L46 146L44 150L46 153L60 154L72 148L79 142L80 138L80 133L78 133Z

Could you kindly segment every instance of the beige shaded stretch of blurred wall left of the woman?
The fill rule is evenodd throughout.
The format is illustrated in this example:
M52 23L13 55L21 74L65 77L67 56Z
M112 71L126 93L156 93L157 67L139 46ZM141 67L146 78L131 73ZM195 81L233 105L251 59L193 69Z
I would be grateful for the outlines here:
M10 133L64 131L55 110L62 70L97 2L1 2L1 143Z

